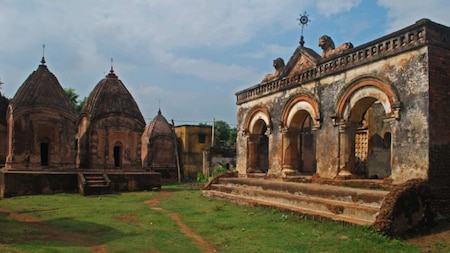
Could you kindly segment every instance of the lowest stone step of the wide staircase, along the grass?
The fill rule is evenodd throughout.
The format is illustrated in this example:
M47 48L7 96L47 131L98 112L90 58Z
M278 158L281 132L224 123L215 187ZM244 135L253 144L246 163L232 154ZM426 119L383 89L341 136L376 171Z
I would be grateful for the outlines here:
M282 210L300 213L302 215L307 216L310 219L315 219L315 220L321 220L321 219L325 218L325 219L342 222L342 223L346 223L346 224L357 224L357 225L370 225L373 223L372 221L359 219L359 218L355 218L355 217L348 217L348 216L337 215L337 214L328 213L328 212L321 212L321 211L316 211L316 210L312 210L312 209L302 208L299 206L288 205L288 204L284 204L284 203L274 203L274 202L267 201L267 200L259 200L259 199L253 200L249 197L243 197L243 196L238 196L235 194L219 192L219 191L203 190L203 195L205 195L207 197L223 199L223 200L238 203L238 204L250 204L250 205L275 207L275 208L279 208Z

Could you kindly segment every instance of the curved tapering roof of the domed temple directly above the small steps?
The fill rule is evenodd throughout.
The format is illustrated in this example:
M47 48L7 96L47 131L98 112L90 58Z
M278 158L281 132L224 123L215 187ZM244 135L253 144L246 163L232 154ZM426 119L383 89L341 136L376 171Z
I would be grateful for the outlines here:
M145 125L136 101L112 68L89 94L81 114L88 114L91 120L117 114L134 118Z

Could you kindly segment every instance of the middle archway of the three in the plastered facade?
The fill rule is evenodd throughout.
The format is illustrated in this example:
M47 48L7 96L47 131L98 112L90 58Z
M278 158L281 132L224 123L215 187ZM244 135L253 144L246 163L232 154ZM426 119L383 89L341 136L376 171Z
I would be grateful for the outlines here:
M282 113L282 175L316 172L315 130L320 127L319 103L302 94L286 103Z

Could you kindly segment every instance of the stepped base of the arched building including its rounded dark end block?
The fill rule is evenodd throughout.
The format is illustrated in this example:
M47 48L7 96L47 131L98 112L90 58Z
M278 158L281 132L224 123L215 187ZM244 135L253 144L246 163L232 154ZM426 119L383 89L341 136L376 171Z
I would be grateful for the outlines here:
M373 225L400 235L432 219L429 187L424 180L388 186L382 180L309 180L239 178L224 173L202 190L208 197L238 204L267 206L339 223ZM365 186L358 188L355 186Z

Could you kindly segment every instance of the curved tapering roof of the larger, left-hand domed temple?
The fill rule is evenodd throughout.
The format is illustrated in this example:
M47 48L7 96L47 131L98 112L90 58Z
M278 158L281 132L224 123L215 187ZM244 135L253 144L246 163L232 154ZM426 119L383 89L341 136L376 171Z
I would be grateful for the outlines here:
M50 72L45 61L33 71L17 90L11 105L14 110L36 107L53 107L67 111L76 117L76 111L69 97Z

